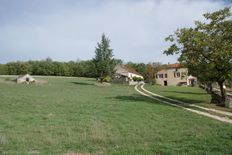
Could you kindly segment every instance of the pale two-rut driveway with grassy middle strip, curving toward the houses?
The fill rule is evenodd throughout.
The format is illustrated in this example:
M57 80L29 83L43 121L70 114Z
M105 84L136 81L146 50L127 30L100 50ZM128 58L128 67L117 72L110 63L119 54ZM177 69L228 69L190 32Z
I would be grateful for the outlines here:
M145 84L142 85L136 85L135 86L135 90L137 92L139 92L140 94L142 94L143 96L147 96L149 98L152 98L154 100L169 104L171 106L175 106L175 107L179 107L179 108L183 108L185 110L197 113L199 115L203 115L203 116L207 116L222 122L226 122L226 123L230 123L232 124L232 113L230 112L224 112L224 111L220 111L220 110L216 110L216 109L211 109L211 108L205 108L205 107L201 107L198 105L194 105L194 104L187 104L178 100L174 100L174 99L170 99L155 93L152 93L148 90L146 90L144 88Z

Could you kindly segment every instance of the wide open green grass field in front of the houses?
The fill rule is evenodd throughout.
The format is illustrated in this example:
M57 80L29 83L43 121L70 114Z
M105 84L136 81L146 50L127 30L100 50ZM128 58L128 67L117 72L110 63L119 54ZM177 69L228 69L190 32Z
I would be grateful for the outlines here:
M153 101L132 86L41 79L48 83L0 83L0 154L232 154L232 125ZM186 100L209 100L195 93Z

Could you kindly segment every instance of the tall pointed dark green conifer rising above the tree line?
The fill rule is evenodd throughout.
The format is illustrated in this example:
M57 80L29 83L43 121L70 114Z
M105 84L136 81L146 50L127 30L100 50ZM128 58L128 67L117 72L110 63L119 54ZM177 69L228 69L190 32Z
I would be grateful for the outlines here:
M110 48L110 40L105 34L102 35L101 41L97 43L93 62L96 76L100 79L100 82L103 82L104 77L111 76L114 73L116 64L113 59L113 50Z

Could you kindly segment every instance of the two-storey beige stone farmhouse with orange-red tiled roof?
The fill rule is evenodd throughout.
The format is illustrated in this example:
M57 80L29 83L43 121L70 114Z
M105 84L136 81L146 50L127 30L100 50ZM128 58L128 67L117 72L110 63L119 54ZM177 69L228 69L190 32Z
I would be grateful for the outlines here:
M170 64L156 73L156 83L163 86L194 86L197 78L188 75L188 68L179 63Z

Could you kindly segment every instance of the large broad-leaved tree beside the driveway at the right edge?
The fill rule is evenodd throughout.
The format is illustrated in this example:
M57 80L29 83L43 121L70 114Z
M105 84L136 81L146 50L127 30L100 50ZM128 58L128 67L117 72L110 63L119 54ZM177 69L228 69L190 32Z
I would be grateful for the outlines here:
M164 51L180 54L179 61L202 81L217 82L222 103L226 100L223 84L232 72L232 18L230 8L203 15L205 22L196 21L194 28L178 29L166 38L173 44Z

